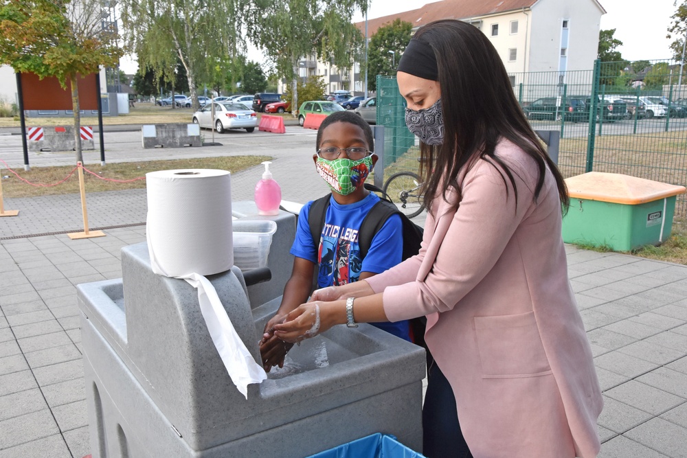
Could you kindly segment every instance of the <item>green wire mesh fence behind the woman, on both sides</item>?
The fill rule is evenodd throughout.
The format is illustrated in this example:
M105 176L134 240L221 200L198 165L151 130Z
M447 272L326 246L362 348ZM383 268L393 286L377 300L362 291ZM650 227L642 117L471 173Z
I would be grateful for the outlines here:
M641 67L641 68L640 68ZM594 62L588 71L513 73L510 81L535 130L558 130L565 177L611 172L687 185L687 78L675 62ZM405 128L396 79L377 77L377 124L385 179L417 171L419 148ZM687 197L675 214L687 216Z

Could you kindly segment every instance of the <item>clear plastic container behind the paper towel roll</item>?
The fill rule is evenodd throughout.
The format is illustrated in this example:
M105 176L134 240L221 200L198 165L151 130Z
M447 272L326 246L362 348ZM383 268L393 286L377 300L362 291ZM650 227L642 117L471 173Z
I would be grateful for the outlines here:
M277 223L270 220L234 220L234 265L242 271L267 266L267 255Z

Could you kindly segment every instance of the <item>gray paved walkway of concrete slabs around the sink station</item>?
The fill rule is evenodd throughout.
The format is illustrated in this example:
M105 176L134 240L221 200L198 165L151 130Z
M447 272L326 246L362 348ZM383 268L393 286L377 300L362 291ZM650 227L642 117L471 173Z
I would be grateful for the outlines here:
M310 149L274 152L284 198L326 192ZM234 201L251 200L258 170L232 176ZM90 453L75 285L122 275L120 249L145 240L146 192L87 203L106 237L65 235L83 230L76 194L5 198L20 213L0 218L0 458ZM600 457L687 457L687 266L567 252L605 398Z

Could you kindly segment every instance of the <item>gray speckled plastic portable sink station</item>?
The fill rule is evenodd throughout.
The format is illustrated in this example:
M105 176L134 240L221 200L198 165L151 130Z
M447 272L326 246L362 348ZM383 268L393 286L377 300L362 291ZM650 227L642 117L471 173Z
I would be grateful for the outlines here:
M250 215L253 203L234 203ZM256 361L293 256L295 216L277 223L266 269L210 275ZM270 277L271 280L265 282ZM249 385L223 366L196 290L156 275L146 243L122 249L122 278L78 286L93 458L306 457L373 433L422 449L425 351L371 325L335 326Z

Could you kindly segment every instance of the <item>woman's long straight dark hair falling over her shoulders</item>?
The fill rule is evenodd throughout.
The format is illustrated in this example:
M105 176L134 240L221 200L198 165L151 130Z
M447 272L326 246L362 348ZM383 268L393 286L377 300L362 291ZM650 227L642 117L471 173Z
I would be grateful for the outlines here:
M414 38L434 50L439 73L444 115L444 142L440 146L420 144L420 174L423 176L425 207L449 186L461 189L458 173L478 158L499 164L513 184L508 165L496 157L499 139L508 139L537 163L539 177L534 189L536 200L544 183L546 165L556 179L563 210L569 198L563 176L550 159L537 134L527 122L510 85L508 73L491 42L474 25L444 20L420 27ZM506 177L502 175L504 184ZM440 189L442 187L442 189Z

